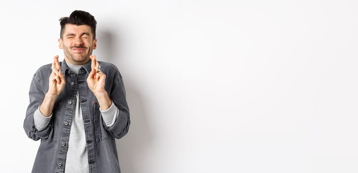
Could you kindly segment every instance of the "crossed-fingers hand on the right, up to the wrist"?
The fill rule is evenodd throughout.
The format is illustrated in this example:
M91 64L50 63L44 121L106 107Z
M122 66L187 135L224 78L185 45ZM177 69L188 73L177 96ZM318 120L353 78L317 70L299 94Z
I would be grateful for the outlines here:
M93 92L94 95L107 93L104 89L106 75L100 70L98 61L96 60L95 55L90 55L89 58L91 62L91 72L87 78L87 84L89 89Z

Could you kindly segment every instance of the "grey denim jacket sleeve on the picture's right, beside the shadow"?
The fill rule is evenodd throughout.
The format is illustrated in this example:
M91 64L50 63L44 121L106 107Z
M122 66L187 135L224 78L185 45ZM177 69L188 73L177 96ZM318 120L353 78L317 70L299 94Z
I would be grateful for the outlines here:
M119 139L128 133L131 121L123 79L117 68L116 70L117 72L114 76L109 97L113 101L114 105L118 108L119 113L113 126L108 127L103 121L103 127L108 130L115 138Z

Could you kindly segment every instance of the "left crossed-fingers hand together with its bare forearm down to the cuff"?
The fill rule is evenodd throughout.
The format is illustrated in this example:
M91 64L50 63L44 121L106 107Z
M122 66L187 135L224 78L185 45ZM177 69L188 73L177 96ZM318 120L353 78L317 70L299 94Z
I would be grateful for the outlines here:
M61 66L58 62L58 55L53 57L52 73L48 79L48 91L45 94L44 101L40 105L40 112L49 117L52 114L53 105L55 104L57 96L63 91L66 81L65 76L61 72Z

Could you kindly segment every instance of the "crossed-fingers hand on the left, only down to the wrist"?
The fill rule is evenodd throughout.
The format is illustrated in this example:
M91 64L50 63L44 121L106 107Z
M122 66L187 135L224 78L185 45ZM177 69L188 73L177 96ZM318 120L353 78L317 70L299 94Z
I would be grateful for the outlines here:
M53 57L51 69L52 73L49 77L47 93L53 96L58 96L66 84L65 77L61 72L60 63L58 62L58 55Z

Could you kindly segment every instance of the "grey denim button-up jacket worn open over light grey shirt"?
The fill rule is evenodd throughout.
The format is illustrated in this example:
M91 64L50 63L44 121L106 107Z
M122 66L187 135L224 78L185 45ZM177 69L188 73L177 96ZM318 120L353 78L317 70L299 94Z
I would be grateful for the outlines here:
M44 130L36 130L34 112L44 100L48 90L51 64L42 66L35 73L29 91L30 104L24 121L24 130L28 137L33 140L41 139L32 173L64 172L77 90L85 126L89 173L120 173L115 138L119 139L127 134L130 126L126 92L117 67L105 62L99 64L101 71L106 75L105 90L119 109L118 118L111 127L105 125L97 99L87 86L86 80L91 71L91 61L80 69L77 77L63 61L61 72L65 75L66 86L57 97L48 126Z

